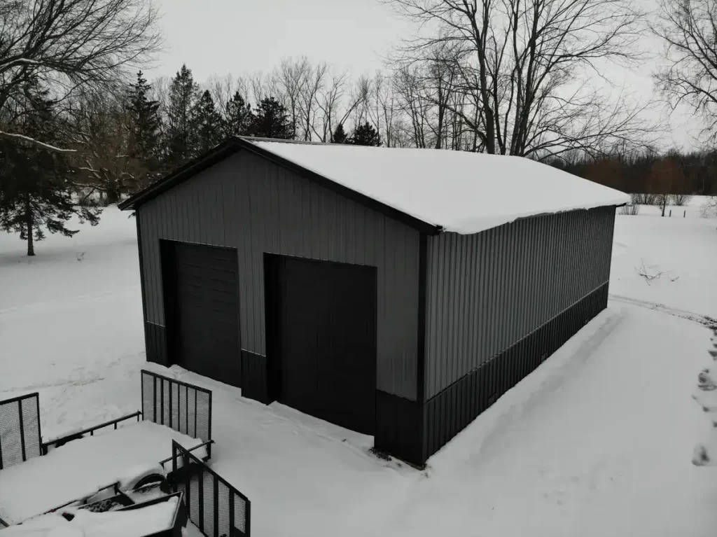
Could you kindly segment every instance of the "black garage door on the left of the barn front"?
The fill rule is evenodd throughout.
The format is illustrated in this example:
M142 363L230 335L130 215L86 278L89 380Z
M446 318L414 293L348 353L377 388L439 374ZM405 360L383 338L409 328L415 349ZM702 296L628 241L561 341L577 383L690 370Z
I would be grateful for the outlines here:
M170 311L174 310L175 363L239 386L237 252L229 248L170 243Z

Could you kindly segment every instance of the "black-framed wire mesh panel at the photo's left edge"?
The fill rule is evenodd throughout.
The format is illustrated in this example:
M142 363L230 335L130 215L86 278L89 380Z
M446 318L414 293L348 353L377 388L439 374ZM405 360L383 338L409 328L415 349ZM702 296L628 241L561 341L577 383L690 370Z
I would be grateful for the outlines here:
M41 454L39 396L0 401L0 470Z

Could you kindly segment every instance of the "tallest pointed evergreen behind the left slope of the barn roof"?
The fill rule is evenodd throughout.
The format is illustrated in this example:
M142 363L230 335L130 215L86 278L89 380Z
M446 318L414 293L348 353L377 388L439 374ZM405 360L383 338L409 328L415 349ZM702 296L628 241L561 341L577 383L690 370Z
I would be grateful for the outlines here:
M194 106L199 86L194 82L191 69L181 66L169 88L166 128L166 163L174 168L189 160L196 151L192 147L194 132Z

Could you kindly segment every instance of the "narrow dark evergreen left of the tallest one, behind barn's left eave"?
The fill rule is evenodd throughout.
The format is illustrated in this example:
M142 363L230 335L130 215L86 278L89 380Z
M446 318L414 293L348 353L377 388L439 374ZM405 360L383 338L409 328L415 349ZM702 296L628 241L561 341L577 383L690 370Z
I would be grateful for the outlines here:
M159 168L159 133L161 118L159 102L151 100L151 85L137 73L137 82L128 97L127 111L130 121L130 157L140 161L146 174L156 174Z

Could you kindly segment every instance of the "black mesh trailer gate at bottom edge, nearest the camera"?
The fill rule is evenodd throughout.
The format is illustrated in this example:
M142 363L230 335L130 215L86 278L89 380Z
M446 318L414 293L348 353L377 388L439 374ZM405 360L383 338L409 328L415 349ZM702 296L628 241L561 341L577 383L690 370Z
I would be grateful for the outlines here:
M204 536L250 536L249 498L174 440L171 475L174 491L184 492L189 520Z

